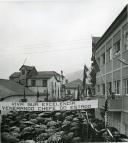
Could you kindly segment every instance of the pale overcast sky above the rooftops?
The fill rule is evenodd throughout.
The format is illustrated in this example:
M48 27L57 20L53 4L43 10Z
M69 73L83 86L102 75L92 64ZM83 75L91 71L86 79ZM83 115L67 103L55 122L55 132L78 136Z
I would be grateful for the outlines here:
M91 66L102 36L127 0L0 0L0 78L25 64L64 75ZM25 60L26 59L26 60Z

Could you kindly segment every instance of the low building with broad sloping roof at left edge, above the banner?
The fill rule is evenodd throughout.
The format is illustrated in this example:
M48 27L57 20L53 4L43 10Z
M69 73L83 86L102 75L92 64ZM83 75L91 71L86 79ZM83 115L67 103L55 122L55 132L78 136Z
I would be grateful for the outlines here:
M36 101L35 93L11 80L0 79L0 101Z

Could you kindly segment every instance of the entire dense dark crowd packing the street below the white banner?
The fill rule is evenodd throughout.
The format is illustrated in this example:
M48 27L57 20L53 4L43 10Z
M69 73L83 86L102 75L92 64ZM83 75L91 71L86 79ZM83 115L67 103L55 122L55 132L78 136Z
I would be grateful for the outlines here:
M2 143L128 141L116 128L106 128L103 121L95 119L92 111L10 111L2 115Z

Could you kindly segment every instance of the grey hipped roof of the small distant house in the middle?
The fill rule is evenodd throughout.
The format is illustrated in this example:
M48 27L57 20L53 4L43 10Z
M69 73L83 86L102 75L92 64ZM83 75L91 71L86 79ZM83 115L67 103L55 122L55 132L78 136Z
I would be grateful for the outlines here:
M74 81L72 81L72 82L67 83L65 86L66 86L66 88L74 88L74 89L77 89L78 86L79 86L79 87L82 87L82 84L83 84L83 82L82 82L80 79L76 79L76 80L74 80Z

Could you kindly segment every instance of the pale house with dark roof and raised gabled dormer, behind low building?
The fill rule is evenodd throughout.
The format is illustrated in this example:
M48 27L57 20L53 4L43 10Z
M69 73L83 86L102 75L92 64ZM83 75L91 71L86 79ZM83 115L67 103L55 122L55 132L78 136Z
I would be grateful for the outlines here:
M39 96L49 99L61 98L61 87L65 83L64 76L55 71L37 71L34 66L23 65L16 73L10 76L10 80L19 82ZM19 79L17 79L19 75Z

